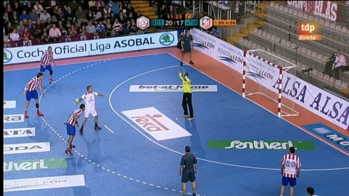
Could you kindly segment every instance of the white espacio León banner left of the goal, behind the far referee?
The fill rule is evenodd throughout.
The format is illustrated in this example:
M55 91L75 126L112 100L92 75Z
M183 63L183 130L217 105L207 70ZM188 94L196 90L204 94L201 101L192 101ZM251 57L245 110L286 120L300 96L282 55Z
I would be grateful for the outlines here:
M193 28L194 48L220 61L224 65L242 73L244 50L224 42L223 40Z

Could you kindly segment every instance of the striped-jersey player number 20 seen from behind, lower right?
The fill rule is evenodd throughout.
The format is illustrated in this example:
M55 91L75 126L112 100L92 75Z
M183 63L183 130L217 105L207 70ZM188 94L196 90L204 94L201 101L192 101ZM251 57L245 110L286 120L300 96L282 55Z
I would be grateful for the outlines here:
M280 196L285 193L285 186L290 183L290 196L294 194L294 186L297 185L297 177L300 175L300 159L295 154L295 147L290 147L290 153L285 154L281 159L281 190Z

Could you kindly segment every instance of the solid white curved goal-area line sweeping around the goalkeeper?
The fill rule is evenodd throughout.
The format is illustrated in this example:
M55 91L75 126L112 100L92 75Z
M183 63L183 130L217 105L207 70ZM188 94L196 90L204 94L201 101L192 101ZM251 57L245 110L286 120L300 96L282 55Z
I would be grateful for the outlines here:
M165 147L157 142L155 142L154 140L152 140L150 137L148 137L146 134L144 134L142 131L140 131L136 126L134 126L132 123L128 122L123 116L121 116L115 109L114 107L112 106L111 104L111 97L113 95L113 93L116 91L117 88L119 88L121 85L125 84L125 82L131 80L131 79L134 79L138 76L141 76L141 75L144 75L144 74L147 74L147 73L152 73L152 72L156 72L156 71L160 71L160 70L164 70L164 69L169 69L169 68L174 68L174 67L178 67L178 66L169 66L169 67L164 67L164 68L160 68L160 69L155 69L155 70L151 70L151 71L148 71L148 72L145 72L145 73L140 73L138 75L135 75L133 77L130 77L128 79L126 79L125 81L121 82L120 84L118 84L112 91L111 93L109 94L109 106L110 108L113 110L113 112L118 115L122 120L124 120L127 124L129 124L132 128L134 128L136 131L138 131L140 134L142 134L145 138L147 138L150 142L154 143L155 145L159 146L159 147L163 147L167 150L170 150L172 152L175 152L177 154L180 154L180 155L184 155L183 153L181 152L178 152L174 149L171 149L169 147ZM198 70L199 71L199 70ZM199 71L200 72L200 71ZM202 73L202 72L200 72ZM206 75L205 73L203 73L204 75ZM206 75L208 76L208 75ZM208 76L209 78L213 79L212 77ZM215 79L213 79L215 80ZM217 81L217 80L215 80ZM217 81L218 83L220 83L219 81ZM220 83L222 84L222 83ZM222 84L223 86L225 86L224 84ZM225 86L226 88L228 88L227 86ZM230 89L230 88L228 88ZM235 92L235 91L234 91ZM274 114L275 115L275 114ZM252 166L244 166L244 165L236 165L236 164L229 164L229 163L223 163L223 162L218 162L218 161L212 161L212 160L208 160L208 159L203 159L203 158L199 158L197 157L197 159L199 160L202 160L202 161L206 161L206 162L210 162L210 163L216 163L216 164L220 164L220 165L226 165L226 166L232 166L232 167L239 167L239 168L248 168L248 169L256 169L256 170L272 170L272 171L279 171L280 169L279 168L262 168L262 167L252 167ZM329 168L329 169L303 169L302 171L304 172L315 172L315 171L332 171L332 170L348 170L349 167L344 167L344 168Z

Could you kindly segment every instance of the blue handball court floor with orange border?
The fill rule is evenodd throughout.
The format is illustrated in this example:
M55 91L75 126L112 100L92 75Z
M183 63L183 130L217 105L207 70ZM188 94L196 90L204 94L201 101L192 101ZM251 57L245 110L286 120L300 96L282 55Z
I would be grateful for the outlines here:
M40 98L40 108L45 116L35 115L32 100L29 119L4 123L5 129L35 127L35 136L5 138L5 145L50 142L50 151L6 154L4 162L55 159L64 163L53 161L51 167L27 171L14 169L4 172L4 177L14 180L83 175L84 186L38 186L26 191L9 188L5 189L5 195L180 196L178 169L185 146L192 148L199 162L197 195L278 195L280 160L288 150L225 148L231 141L301 143L296 150L302 168L295 196L304 195L308 186L321 196L347 195L349 152L303 126L323 123L348 137L346 130L298 105L295 110L299 116L278 118L275 102L261 96L242 98L241 73L196 50L194 66L180 67L179 58L179 49L166 48L56 60L57 67L52 67L55 83L49 84L47 72L42 85L45 95ZM187 55L185 62L189 62ZM4 100L16 100L15 108L4 109L5 115L24 113L23 88L39 72L39 66L39 63L4 66ZM178 69L189 73L192 85L217 88L217 91L193 92L192 122L180 117L183 112L180 91L130 92L131 85L181 85ZM64 152L68 137L63 123L78 107L74 99L85 93L87 85L106 95L96 98L102 130L93 129L90 117L84 126L85 134L81 136L77 131L74 155L70 157ZM147 112L160 112L167 118L164 125L182 132L176 135L169 131L167 135L157 136L142 129L132 117ZM82 120L83 117L79 123ZM288 191L286 188L286 195ZM192 194L190 183L187 192Z

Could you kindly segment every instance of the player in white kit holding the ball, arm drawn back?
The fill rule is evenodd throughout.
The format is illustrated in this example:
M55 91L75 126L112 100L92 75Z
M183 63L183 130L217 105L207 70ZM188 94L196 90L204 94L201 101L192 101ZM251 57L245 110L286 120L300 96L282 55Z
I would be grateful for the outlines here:
M95 118L95 130L100 130L102 129L99 125L98 125L98 115L95 109L95 97L96 96L104 96L103 94L100 93L96 93L93 91L92 86L87 86L87 92L85 94L83 94L81 96L81 98L79 98L79 102L81 100L85 101L85 120L82 122L82 126L80 128L80 133L83 134L84 131L84 125L86 124L90 114L91 116L93 116Z

